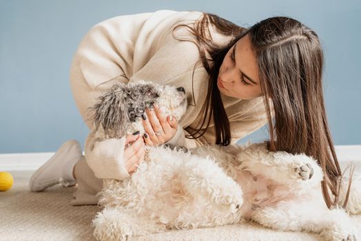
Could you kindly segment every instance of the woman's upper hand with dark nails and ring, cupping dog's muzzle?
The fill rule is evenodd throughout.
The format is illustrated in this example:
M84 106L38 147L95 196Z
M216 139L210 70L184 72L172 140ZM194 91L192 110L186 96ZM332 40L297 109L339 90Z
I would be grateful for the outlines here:
M173 116L165 114L154 103L154 109L145 109L142 115L145 134L143 136L145 144L161 145L172 139L178 127L178 121Z

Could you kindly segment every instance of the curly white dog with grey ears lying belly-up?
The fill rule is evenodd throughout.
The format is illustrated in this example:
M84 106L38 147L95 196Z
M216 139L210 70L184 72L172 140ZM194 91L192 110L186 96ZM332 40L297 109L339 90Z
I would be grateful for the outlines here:
M140 116L152 102L179 119L187 105L182 89L145 81L114 85L94 106L96 129L105 138L111 138L110 133L143 133ZM324 240L360 240L347 213L361 213L361 176L353 175L347 210L327 209L322 178L312 157L268 151L266 142L189 150L150 147L131 178L105 180L98 193L104 208L93 220L94 236L130 240L169 229L253 220L278 230L320 233ZM347 184L345 177L340 204Z

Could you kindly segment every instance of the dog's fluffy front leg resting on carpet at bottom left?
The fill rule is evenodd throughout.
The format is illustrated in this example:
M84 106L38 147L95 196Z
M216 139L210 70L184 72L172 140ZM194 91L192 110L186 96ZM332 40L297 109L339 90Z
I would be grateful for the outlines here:
M166 231L165 224L156 223L131 210L106 207L93 220L94 236L97 240L123 241L133 237Z

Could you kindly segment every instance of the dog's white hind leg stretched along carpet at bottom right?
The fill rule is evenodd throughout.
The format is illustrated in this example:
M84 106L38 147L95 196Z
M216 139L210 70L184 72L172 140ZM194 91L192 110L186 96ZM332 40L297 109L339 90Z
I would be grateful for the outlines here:
M358 231L343 209L329 210L319 201L282 201L276 207L256 209L251 219L283 231L319 233L324 240L357 240Z

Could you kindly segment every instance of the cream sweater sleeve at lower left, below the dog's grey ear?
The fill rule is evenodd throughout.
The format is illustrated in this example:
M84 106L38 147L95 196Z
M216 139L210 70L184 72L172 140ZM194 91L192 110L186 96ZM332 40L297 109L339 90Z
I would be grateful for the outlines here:
M130 178L123 161L124 146L125 137L101 140L96 132L90 132L85 140L85 160L97 178Z

